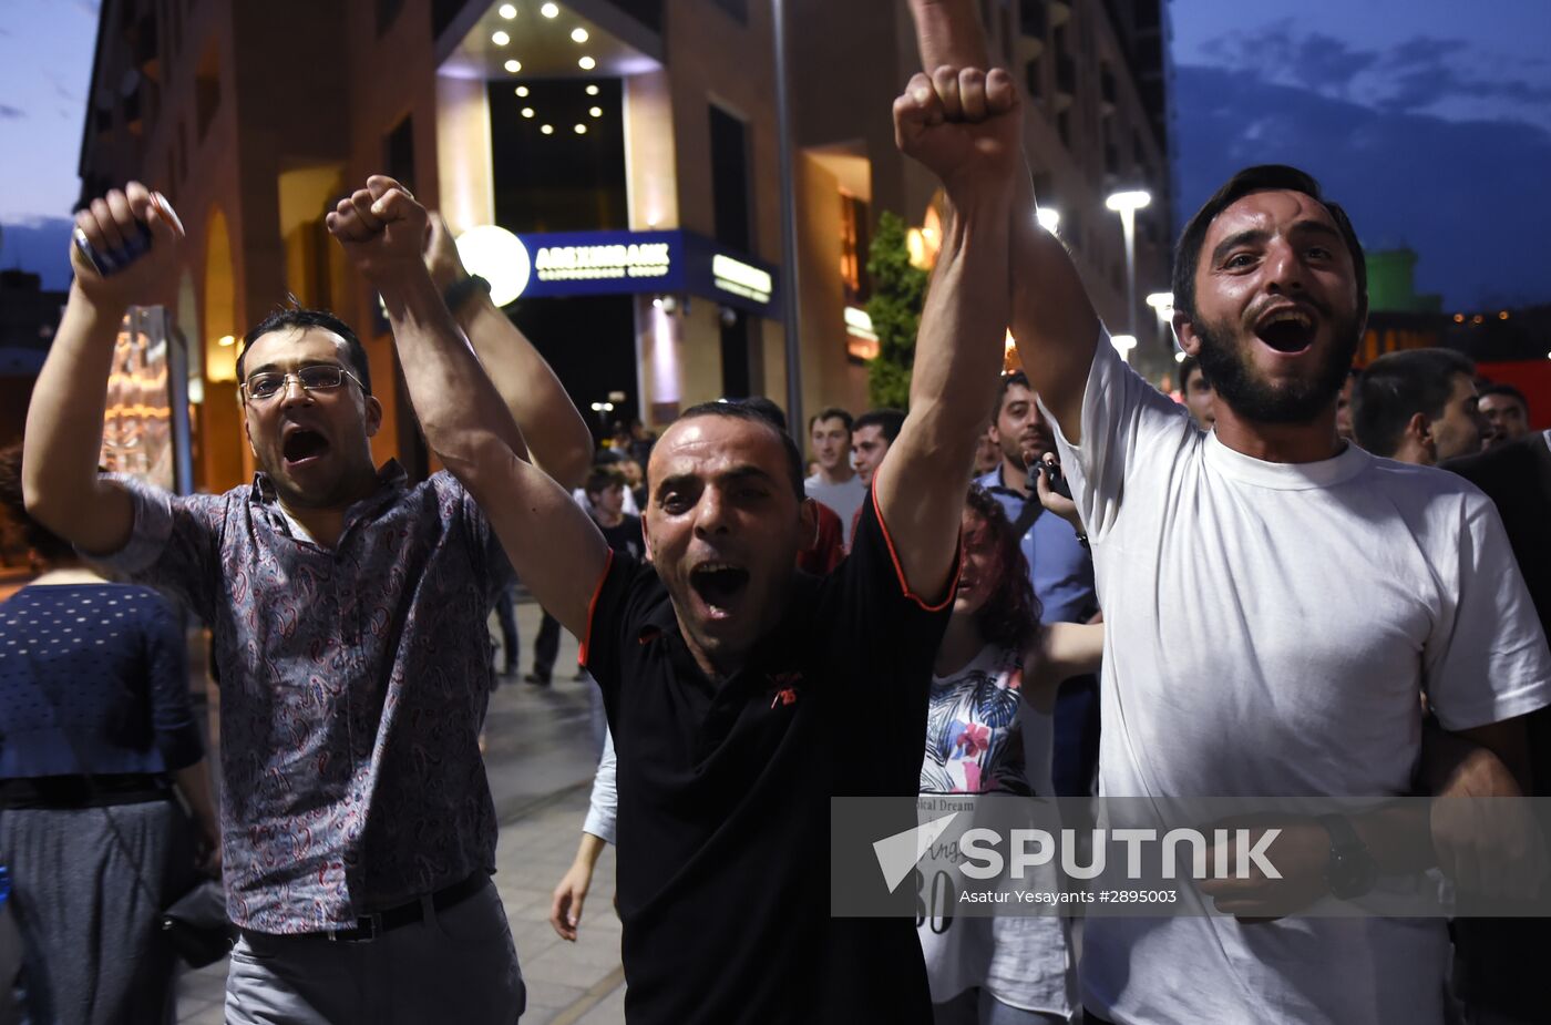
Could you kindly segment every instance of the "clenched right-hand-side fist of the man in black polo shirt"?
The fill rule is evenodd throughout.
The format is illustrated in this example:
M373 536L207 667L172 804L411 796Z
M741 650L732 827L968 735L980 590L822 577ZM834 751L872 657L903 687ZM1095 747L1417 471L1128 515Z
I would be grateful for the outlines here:
M893 135L900 152L926 164L949 194L1005 181L1022 160L1017 87L1002 68L917 74L893 101Z

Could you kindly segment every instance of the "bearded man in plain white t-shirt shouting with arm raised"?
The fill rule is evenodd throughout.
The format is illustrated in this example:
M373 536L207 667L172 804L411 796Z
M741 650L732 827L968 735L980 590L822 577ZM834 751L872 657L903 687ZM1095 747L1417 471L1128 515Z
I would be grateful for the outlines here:
M976 5L912 9L926 67L983 56ZM1218 391L1204 434L1121 361L1025 200L1011 330L1093 546L1107 625L1101 792L1405 794L1418 695L1446 730L1520 768L1515 720L1551 702L1551 651L1497 512L1447 473L1335 433L1366 318L1362 248L1340 208L1301 172L1256 167L1191 219L1174 329ZM1272 847L1280 882L1204 884L1214 906L1180 889L1216 916L1090 918L1089 1020L1441 1023L1441 920L1222 913L1331 901L1343 859L1394 870L1370 827L1289 822Z

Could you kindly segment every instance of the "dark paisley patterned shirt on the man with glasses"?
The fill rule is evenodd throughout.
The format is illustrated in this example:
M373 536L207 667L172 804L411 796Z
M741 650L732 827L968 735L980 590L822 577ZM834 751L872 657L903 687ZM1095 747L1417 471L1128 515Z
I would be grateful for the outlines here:
M225 495L121 482L135 530L105 561L178 591L214 636L231 920L349 927L492 871L478 738L485 617L510 569L462 485L409 487L389 462L326 549L262 473Z

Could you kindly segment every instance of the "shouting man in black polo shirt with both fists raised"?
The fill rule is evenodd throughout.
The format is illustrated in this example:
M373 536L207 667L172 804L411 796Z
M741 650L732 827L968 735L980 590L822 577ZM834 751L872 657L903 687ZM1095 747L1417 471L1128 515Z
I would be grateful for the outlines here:
M917 789L971 454L1002 360L1016 107L1005 71L972 70L918 74L895 102L901 149L941 178L955 214L910 416L850 558L824 578L794 571L813 530L797 448L732 403L664 433L648 561L610 555L516 454L516 425L423 278L423 211L374 180L371 217L330 219L383 296L430 447L518 575L585 639L603 687L633 1023L931 1020L914 921L828 915L828 799Z

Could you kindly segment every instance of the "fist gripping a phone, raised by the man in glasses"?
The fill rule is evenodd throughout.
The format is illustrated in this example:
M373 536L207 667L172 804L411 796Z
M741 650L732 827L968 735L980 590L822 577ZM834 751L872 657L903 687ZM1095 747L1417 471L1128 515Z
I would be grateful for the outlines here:
M183 223L164 195L130 181L123 192L113 189L82 208L71 236L76 287L116 310L163 298L175 273Z

